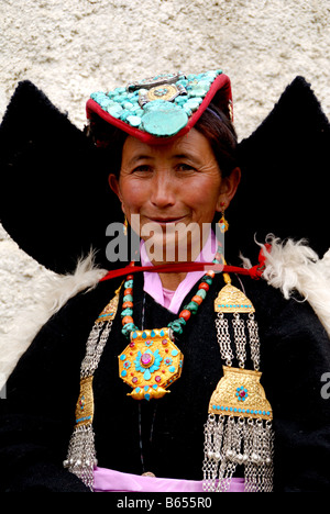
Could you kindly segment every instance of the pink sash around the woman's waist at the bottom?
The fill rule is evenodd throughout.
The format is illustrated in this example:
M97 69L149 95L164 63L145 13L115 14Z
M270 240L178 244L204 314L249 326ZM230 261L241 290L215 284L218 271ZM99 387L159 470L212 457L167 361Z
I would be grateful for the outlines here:
M96 492L204 492L202 482L122 473L112 469L95 468ZM229 492L244 492L244 479L233 478Z

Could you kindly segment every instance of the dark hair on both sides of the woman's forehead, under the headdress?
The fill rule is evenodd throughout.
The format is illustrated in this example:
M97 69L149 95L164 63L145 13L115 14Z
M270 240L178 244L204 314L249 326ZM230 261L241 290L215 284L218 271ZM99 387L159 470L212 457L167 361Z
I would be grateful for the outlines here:
M204 111L195 128L209 141L218 166L223 177L228 177L238 167L235 130L226 114L212 103ZM119 177L121 155L128 134L106 122L98 115L92 115L86 134L111 161L112 172Z

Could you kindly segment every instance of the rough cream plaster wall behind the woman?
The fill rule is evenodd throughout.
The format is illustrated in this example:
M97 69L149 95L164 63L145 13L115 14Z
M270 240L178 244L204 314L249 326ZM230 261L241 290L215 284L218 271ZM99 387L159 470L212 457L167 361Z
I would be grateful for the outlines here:
M330 115L324 0L1 0L0 119L30 79L80 128L91 91L160 71L222 68L239 138L302 75ZM47 271L0 225L0 340L38 301Z

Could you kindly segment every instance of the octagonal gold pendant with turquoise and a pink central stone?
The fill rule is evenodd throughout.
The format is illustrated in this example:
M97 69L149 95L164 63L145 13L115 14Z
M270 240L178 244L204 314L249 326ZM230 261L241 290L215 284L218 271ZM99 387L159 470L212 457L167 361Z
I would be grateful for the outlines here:
M118 357L119 376L133 391L135 400L158 399L182 375L184 356L173 342L170 328L135 331Z

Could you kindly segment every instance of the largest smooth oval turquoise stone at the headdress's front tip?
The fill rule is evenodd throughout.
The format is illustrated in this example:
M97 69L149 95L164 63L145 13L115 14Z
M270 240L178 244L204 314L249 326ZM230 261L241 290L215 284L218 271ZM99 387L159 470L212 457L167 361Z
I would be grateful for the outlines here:
M188 114L178 105L165 100L145 105L142 128L155 136L177 134L188 123Z

